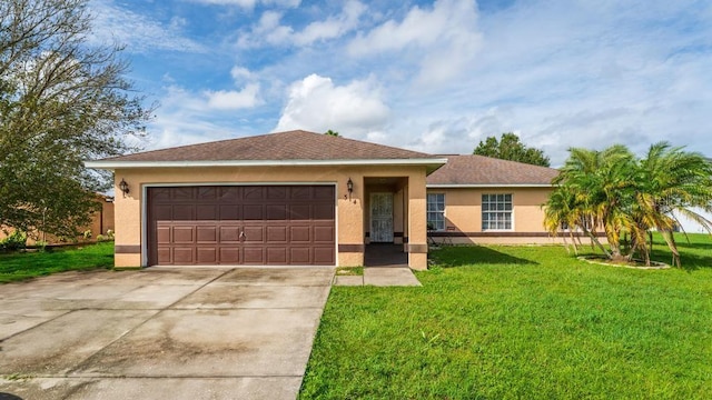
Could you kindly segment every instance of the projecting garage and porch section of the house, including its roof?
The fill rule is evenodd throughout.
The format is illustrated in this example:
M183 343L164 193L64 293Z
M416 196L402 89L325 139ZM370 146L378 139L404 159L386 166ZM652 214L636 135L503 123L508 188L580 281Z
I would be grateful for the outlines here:
M445 158L306 131L87 162L113 170L117 267L427 267L426 177ZM127 193L120 183L125 182Z

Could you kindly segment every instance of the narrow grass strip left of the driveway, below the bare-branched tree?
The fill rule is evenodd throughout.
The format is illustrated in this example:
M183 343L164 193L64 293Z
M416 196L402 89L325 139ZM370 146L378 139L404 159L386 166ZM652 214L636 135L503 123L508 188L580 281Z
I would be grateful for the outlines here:
M113 267L113 242L39 252L0 253L0 283L56 272Z

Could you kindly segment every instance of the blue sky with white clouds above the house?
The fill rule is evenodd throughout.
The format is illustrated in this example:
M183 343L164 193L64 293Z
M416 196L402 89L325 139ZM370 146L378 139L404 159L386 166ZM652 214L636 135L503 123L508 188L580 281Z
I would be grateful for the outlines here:
M146 150L304 129L437 154L516 133L712 157L712 1L90 0Z

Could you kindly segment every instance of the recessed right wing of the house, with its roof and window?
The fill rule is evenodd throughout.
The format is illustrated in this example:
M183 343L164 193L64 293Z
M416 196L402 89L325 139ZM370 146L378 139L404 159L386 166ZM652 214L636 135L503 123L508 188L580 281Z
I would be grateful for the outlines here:
M544 210L558 171L483 156L446 156L427 177L427 220L435 241L551 243Z

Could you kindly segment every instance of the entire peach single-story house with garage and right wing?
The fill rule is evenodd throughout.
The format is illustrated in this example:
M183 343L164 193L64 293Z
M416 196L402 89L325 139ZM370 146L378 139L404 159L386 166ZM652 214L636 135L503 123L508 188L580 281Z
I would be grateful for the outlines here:
M396 243L425 269L428 220L454 242L545 240L556 174L306 131L86 164L115 172L117 267L362 266L366 246Z

